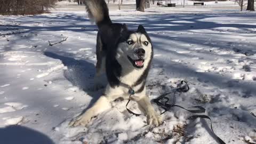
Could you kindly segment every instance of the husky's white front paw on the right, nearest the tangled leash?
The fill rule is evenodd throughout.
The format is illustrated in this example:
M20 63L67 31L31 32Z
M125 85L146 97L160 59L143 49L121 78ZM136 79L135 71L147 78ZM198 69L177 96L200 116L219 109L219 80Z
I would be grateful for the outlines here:
M149 125L161 125L163 123L163 119L161 115L157 114L154 109L149 109L147 113L147 123Z

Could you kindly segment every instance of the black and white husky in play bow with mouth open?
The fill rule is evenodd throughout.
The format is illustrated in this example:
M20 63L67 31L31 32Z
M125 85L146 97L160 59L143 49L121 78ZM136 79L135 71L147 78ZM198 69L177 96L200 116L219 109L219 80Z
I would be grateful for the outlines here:
M153 45L146 30L140 25L137 31L131 31L125 24L113 23L104 0L85 0L85 4L90 19L99 28L95 79L106 71L108 84L98 101L69 125L85 126L92 117L111 108L111 101L119 97L129 99L130 89L135 91L131 99L138 102L147 123L162 124L146 95L145 83L153 58Z

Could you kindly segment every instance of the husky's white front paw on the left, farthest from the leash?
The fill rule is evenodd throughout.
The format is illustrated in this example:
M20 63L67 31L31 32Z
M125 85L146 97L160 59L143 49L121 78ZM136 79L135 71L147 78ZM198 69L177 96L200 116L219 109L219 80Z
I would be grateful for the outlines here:
M81 116L78 116L77 118L74 118L68 125L69 126L78 126L78 125L86 126L91 121L91 118L92 116L83 114Z

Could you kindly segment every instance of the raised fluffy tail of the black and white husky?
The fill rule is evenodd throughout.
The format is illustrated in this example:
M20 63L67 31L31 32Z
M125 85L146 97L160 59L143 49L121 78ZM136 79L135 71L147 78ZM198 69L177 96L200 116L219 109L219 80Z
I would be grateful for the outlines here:
M91 21L95 21L99 28L112 23L105 0L85 0L85 5Z

